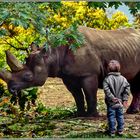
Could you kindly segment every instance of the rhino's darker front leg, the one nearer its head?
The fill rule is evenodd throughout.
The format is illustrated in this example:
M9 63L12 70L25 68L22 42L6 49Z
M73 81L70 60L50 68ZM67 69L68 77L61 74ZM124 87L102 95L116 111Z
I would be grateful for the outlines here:
M78 117L85 117L85 105L84 105L84 95L81 90L80 81L76 78L66 77L63 78L63 82L67 89L72 93L76 106L77 106L77 116Z

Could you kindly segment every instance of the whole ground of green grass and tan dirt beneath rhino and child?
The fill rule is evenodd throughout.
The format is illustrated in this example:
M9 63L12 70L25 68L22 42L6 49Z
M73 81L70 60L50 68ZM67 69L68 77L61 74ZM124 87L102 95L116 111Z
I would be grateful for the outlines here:
M54 81L53 81L54 82ZM58 83L57 83L58 82ZM5 109L3 109L5 110ZM40 89L38 106L19 114L0 116L0 138L110 138L106 133L106 106L103 92L98 94L101 117L75 118L75 102L60 81ZM140 114L125 114L124 136L140 137Z

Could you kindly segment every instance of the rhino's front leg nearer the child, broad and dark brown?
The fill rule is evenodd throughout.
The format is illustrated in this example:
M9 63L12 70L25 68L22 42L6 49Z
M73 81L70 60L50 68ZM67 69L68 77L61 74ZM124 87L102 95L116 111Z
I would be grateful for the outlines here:
M97 89L98 89L97 75L92 75L84 78L82 86L87 102L87 115L98 116L99 114L97 112Z

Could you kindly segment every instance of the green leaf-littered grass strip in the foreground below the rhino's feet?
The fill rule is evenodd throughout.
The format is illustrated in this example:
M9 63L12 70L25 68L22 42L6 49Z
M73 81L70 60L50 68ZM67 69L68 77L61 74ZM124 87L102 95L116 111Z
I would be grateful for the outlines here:
M60 109L60 110L59 110ZM2 138L110 138L106 133L105 116L101 118L74 118L74 112L66 108L54 108L44 114L30 112L23 114L19 120L14 115L0 116L0 137ZM72 110L73 108L71 108ZM63 111L62 111L63 110ZM62 112L63 113L62 113ZM59 114L60 112L60 114ZM66 112L66 116L65 113ZM62 117L62 114L63 117ZM127 124L128 130L123 138L138 138L139 133L133 133L136 128ZM133 130L133 131L132 131ZM116 136L116 138L119 138Z

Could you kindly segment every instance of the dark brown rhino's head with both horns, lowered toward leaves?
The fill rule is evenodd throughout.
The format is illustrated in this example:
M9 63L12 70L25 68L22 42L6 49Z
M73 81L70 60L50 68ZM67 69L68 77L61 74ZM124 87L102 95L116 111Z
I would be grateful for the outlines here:
M21 64L16 57L6 51L7 63L11 71L0 71L2 78L8 85L11 93L33 86L41 86L48 76L47 64L45 64L44 53L46 49L32 49L31 54L26 58L26 64Z

